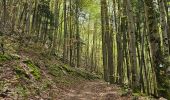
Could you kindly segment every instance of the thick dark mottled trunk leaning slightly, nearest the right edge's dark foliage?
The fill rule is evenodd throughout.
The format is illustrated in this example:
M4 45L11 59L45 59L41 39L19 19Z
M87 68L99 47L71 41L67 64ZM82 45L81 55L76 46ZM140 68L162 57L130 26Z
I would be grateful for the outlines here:
M149 35L149 41L151 44L151 53L152 53L152 68L153 68L153 73L156 74L156 82L159 84L161 83L159 80L159 66L161 64L161 42L160 42L160 37L158 33L158 24L157 24L157 19L155 17L155 10L154 10L154 5L152 0L145 0L146 4L146 13L147 13L147 28L148 28L148 35ZM155 76L155 75L153 75ZM155 84L156 85L156 84ZM156 89L154 91L154 94L157 96L157 85L154 86Z

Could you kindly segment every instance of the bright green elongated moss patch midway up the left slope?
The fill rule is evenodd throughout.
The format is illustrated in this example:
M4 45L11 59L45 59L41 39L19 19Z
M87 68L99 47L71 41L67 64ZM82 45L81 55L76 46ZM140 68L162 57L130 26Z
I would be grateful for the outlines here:
M30 60L23 61L23 63L29 67L29 72L34 76L35 79L40 79L40 69L34 63L32 63Z

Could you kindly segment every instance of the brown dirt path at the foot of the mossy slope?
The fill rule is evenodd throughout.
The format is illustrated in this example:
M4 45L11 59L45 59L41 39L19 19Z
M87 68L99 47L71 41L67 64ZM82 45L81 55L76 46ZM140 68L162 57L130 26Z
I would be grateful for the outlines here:
M68 92L60 100L131 100L121 97L120 88L102 81L83 82Z

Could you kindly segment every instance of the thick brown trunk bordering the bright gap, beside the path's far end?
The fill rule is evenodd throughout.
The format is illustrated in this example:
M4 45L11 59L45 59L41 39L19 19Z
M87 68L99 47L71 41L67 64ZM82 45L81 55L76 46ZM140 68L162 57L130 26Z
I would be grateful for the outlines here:
M103 37L103 59L104 59L104 77L105 80L111 84L114 83L113 77L113 37L110 32L109 26L109 17L108 17L108 9L107 9L107 1L101 0L101 11L102 11L102 37ZM106 47L104 46L106 45ZM107 71L109 74L107 74ZM107 78L109 75L109 78Z

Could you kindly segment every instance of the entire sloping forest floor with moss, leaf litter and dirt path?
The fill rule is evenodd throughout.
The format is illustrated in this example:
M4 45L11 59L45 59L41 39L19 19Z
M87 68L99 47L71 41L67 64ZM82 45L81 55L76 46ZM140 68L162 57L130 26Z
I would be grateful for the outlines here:
M0 100L150 100L48 56L44 48L17 46L6 38L0 54Z

